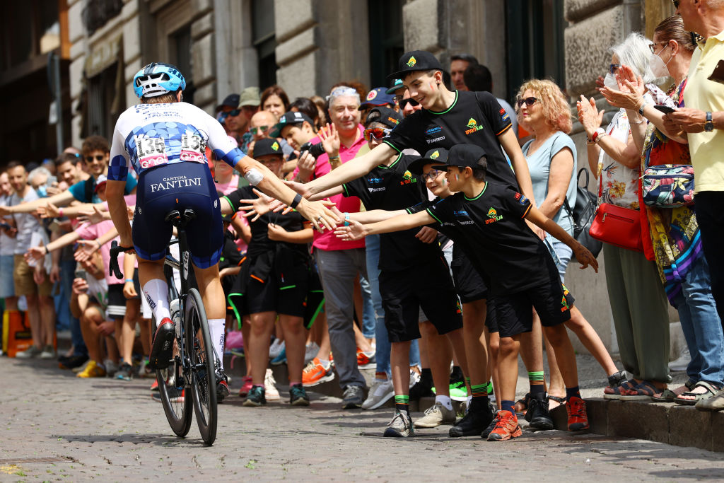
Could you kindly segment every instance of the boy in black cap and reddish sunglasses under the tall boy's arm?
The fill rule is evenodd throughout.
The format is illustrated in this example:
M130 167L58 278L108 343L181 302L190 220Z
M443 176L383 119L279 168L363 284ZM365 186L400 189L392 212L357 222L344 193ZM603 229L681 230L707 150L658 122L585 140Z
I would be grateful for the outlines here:
M378 128L379 135L389 135L390 130L400 122L400 115L392 109L372 109L367 125ZM424 182L413 176L408 166L419 159L395 153L394 159L369 172L368 175L345 183L341 187L327 190L316 197L327 197L337 193L344 196L358 196L366 209L396 210L416 205L427 200ZM345 219L353 214L345 213ZM408 370L411 340L420 337L418 327L419 309L422 307L429 321L440 335L447 335L458 350L463 371L466 356L463 342L463 321L458 309L458 298L450 277L450 269L442 256L439 243L424 243L418 238L419 228L389 233L380 237L379 292L382 295L384 324L392 343L390 362L392 384L395 388L395 416L384 432L384 436L408 437L414 434L409 413L410 373ZM430 350L436 350L431 347ZM447 361L450 364L450 361ZM439 368L435 368L439 369ZM432 374L439 387L435 404L426 411L424 418L416 421L416 427L436 427L455 422L448 380L449 366Z

